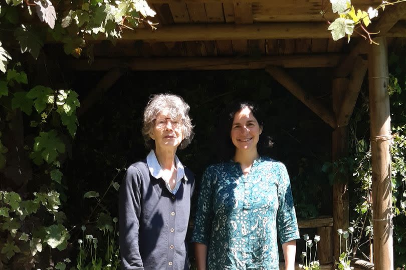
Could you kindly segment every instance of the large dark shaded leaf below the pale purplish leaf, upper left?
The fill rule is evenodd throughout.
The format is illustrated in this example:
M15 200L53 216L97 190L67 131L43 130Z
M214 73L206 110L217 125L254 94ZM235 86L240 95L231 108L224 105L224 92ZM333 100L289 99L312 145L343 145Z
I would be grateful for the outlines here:
M27 29L26 26L21 25L15 30L14 36L19 41L22 53L29 52L35 59L38 58L44 42L34 29Z

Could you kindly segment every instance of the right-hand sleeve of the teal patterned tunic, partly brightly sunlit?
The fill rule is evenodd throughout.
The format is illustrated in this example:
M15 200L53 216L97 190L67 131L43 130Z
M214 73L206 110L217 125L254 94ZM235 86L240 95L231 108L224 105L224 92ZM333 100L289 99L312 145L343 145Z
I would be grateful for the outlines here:
M277 227L281 244L294 239L299 239L299 228L296 220L295 207L293 205L292 190L290 187L289 174L285 165L281 164L278 182L279 208L277 212Z

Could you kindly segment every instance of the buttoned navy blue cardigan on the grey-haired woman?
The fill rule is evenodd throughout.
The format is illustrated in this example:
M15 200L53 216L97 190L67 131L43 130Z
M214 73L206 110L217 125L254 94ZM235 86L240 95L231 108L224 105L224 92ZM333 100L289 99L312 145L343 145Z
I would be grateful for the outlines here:
M194 176L173 195L154 178L146 160L132 164L120 186L121 269L189 269L185 240Z

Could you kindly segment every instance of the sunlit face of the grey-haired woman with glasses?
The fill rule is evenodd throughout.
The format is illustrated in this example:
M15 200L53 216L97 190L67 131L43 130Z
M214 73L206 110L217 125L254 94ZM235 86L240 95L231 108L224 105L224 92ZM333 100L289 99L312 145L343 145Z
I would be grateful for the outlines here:
M179 119L171 119L169 113L159 113L149 134L156 148L177 148L184 139L183 124Z

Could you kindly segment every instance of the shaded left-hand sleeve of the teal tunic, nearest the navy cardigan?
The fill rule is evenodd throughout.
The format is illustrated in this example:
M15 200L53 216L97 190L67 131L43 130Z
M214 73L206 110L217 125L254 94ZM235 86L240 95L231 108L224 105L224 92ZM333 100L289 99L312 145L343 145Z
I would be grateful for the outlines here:
M209 244L213 220L213 174L207 169L200 184L192 241Z

